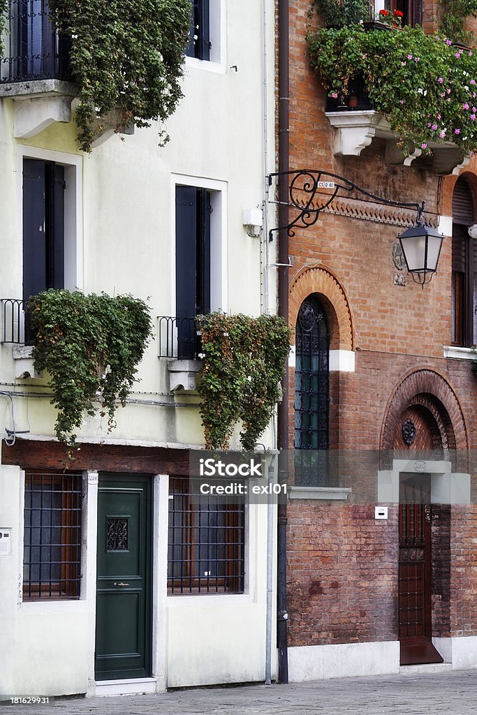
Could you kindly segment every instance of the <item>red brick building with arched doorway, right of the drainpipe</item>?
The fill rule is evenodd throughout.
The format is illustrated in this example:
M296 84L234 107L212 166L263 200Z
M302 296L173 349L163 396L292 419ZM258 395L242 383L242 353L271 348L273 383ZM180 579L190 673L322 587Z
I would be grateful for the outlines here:
M305 40L323 22L308 0L286 6L280 169L322 170L384 199L425 201L426 222L446 236L422 288L398 250L414 209L340 192L313 225L287 239L282 232L280 260L292 264L280 269L282 307L288 301L296 328L282 447L295 448L295 467L318 454L296 470L287 506L290 680L442 660L477 667L477 251L474 259L468 234L477 160L451 147L398 157L382 117L327 112ZM436 29L435 14L425 3L426 31ZM326 448L339 450L328 470L315 452Z

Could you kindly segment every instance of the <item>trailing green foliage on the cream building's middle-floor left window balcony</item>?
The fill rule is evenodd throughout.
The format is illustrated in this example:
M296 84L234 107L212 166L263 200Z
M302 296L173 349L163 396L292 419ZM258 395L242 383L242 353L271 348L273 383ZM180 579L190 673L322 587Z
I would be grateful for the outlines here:
M71 449L84 415L124 407L151 335L149 307L130 295L110 297L50 289L29 300L36 368L48 370L57 408L55 431Z

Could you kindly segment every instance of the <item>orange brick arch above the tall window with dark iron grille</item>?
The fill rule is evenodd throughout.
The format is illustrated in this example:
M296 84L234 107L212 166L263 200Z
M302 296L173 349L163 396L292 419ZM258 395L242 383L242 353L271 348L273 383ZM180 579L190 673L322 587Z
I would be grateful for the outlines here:
M354 350L355 330L348 297L338 278L323 266L304 268L290 283L290 325L295 326L298 310L308 295L317 293L326 311L333 350Z

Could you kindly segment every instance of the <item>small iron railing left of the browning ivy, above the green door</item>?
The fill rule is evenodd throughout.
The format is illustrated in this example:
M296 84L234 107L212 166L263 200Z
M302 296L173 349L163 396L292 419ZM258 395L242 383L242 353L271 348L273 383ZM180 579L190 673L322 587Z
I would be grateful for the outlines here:
M195 317L159 315L159 358L197 360L202 349L200 330Z

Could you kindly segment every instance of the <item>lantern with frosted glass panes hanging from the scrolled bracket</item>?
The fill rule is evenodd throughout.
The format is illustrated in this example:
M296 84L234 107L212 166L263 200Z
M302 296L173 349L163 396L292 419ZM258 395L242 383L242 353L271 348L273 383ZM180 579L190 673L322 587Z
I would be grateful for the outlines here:
M436 272L443 238L436 229L423 224L413 226L399 236L408 271L420 274L418 282L427 282L427 274L431 280Z

